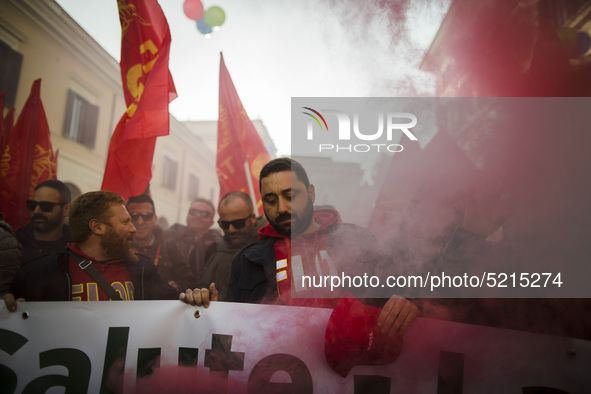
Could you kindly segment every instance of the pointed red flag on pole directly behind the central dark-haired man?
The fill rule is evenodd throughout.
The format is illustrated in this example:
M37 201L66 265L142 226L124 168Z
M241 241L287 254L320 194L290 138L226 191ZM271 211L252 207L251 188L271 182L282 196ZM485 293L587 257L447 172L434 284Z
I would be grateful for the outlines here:
M242 106L221 54L219 112L216 166L220 198L243 191L255 198L260 214L259 173L271 156Z

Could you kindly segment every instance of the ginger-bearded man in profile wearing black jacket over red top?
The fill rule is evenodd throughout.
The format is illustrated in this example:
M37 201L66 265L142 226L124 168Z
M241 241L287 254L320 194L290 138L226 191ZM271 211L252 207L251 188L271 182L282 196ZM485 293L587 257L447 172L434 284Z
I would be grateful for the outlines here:
M27 301L103 301L110 285L123 300L175 299L177 292L167 285L146 257L132 249L136 229L125 209L125 201L108 191L89 192L78 197L70 211L74 243L66 253L36 259L21 267L4 297L14 311L15 298ZM96 268L107 282L89 273ZM107 291L104 290L107 288ZM113 297L112 299L118 299Z

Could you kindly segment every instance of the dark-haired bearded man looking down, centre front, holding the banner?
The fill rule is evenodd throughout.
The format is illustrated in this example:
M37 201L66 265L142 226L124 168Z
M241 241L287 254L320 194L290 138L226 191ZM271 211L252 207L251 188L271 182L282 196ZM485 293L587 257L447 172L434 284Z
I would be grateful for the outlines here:
M325 298L326 289L303 287L303 275L353 276L377 268L379 246L373 234L343 224L336 210L315 211L314 185L301 164L271 160L261 170L259 187L269 225L259 230L261 241L232 262L227 301L333 307L337 299ZM180 299L209 305L219 294L211 284L181 293ZM382 334L396 336L418 313L412 302L394 295L383 305L377 325Z

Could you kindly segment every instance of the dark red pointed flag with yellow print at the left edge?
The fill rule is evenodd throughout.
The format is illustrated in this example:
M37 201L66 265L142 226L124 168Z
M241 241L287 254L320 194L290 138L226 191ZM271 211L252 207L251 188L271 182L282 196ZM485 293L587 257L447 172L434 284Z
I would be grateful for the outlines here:
M31 197L35 186L56 176L57 155L51 146L38 79L33 82L0 161L0 211L13 228L29 223L25 200Z

